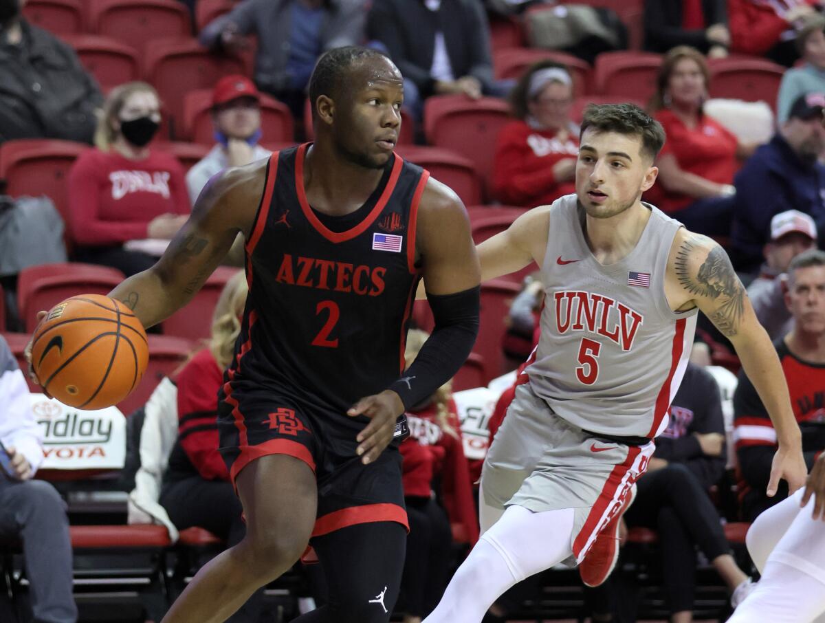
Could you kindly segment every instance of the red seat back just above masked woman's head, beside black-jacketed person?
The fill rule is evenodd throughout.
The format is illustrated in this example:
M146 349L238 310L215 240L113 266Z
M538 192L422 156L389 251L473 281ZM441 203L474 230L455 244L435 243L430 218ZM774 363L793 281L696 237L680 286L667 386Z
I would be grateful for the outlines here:
M112 88L140 78L138 53L129 45L97 35L71 35L64 40L101 87Z

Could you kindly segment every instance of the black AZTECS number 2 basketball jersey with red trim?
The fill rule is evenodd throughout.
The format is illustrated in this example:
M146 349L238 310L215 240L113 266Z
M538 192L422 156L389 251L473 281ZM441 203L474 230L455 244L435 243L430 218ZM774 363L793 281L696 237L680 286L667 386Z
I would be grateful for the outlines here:
M415 234L428 173L397 155L344 231L304 191L308 146L273 153L247 241L249 295L226 379L327 413L383 391L403 371L418 281ZM350 216L350 215L348 215Z

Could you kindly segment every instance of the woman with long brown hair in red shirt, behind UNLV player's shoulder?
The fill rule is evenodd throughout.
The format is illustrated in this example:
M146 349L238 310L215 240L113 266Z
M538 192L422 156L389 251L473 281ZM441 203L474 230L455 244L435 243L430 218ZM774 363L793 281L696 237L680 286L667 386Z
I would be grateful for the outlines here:
M659 209L700 234L727 235L738 158L752 150L703 106L710 73L705 57L680 45L665 55L651 108L667 134L648 195Z

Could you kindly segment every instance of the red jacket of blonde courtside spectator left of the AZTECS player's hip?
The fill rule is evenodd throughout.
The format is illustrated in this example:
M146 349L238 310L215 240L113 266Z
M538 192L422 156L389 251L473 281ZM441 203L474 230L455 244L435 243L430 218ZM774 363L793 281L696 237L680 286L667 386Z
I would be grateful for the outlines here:
M205 480L229 480L218 451L218 389L224 371L209 348L196 353L177 375L177 441Z

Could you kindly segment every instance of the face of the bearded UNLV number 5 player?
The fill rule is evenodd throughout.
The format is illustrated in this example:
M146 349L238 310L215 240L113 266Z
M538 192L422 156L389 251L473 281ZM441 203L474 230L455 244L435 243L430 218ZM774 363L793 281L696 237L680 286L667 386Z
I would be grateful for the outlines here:
M653 186L658 168L641 151L642 139L587 128L576 163L576 195L596 219L627 210Z

